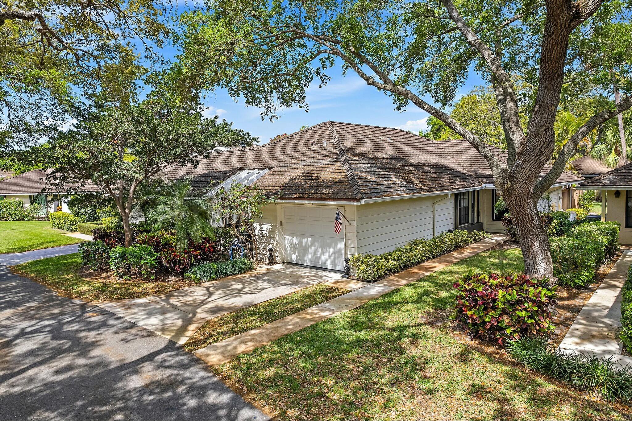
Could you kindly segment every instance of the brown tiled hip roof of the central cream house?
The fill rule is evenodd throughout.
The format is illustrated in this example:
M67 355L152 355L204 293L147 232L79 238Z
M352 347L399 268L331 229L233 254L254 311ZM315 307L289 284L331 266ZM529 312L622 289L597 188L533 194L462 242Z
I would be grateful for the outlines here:
M505 159L506 152L494 150ZM358 201L493 184L487 161L463 139L433 141L401 129L331 121L265 145L212 153L195 168L175 164L162 175L190 177L202 189L240 170L265 168L257 186L282 199ZM0 194L8 181L0 181ZM570 173L558 179L578 181Z

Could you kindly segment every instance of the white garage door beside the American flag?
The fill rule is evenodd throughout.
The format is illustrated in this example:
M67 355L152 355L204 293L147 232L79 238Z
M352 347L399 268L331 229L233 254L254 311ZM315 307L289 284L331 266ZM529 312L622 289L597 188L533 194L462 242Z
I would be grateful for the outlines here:
M334 232L336 208L283 206L286 258L289 262L343 270L344 220Z

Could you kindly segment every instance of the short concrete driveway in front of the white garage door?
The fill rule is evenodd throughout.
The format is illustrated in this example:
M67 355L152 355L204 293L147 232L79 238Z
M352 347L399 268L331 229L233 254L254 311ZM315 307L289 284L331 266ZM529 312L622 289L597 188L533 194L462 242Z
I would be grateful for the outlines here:
M341 280L339 273L300 268L291 264L276 264L167 294L94 304L182 344L205 321L214 317L281 297L317 283L342 281L346 282ZM364 282L359 283L367 285Z

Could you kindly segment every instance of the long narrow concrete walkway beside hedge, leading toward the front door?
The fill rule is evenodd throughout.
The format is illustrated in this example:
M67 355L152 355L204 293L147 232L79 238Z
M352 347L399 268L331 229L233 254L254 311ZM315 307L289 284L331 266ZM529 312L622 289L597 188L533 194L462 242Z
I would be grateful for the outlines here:
M195 355L209 365L224 364L240 353L249 352L254 348L277 340L281 338L281 336L288 335L288 333L307 328L307 326L318 323L341 312L360 307L360 305L365 304L365 302L369 300L387 294L387 292L391 292L395 288L402 287L408 283L416 282L420 280L420 278L423 278L423 276L430 275L430 273L441 270L450 264L490 249L506 239L507 237L505 235L494 235L489 239L479 241L439 258L419 264L408 270L396 273L379 282L366 286L362 286L362 282L360 282L360 285L355 285L355 287L359 288L349 288L353 289L353 291L348 294L340 295L319 305L314 305L291 316L283 317L283 319L265 324L260 328L252 329L240 333L240 335L233 336L232 338L213 343L195 351Z

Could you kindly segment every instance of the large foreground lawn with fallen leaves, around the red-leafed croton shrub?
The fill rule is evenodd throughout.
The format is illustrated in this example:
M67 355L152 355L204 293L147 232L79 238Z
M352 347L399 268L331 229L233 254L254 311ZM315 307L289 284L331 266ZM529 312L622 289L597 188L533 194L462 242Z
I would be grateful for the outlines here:
M449 318L454 280L521 271L519 249L487 251L216 368L279 420L628 419L469 341Z

